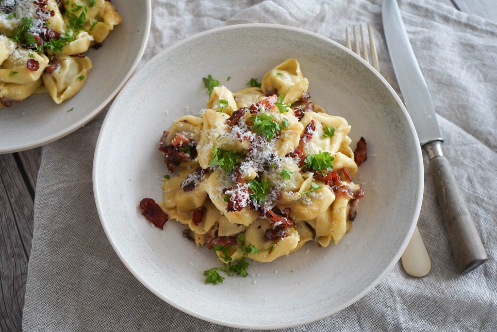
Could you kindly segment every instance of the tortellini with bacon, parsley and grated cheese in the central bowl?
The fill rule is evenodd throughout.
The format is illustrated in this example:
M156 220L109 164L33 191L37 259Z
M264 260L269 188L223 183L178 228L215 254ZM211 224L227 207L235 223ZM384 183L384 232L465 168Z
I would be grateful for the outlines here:
M310 101L296 59L267 72L261 84L232 93L209 75L207 109L184 115L164 131L159 150L170 172L164 202L146 198L143 215L213 248L223 267L206 283L247 276L247 258L271 262L311 240L327 247L352 228L364 197L352 178L367 158L361 137L353 152L343 117Z

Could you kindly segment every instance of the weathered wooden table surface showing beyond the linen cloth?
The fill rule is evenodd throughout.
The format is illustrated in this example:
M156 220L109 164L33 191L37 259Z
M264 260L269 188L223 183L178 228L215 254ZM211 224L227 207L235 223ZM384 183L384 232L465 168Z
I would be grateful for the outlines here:
M496 0L436 0L497 21ZM0 155L0 331L20 331L41 147Z

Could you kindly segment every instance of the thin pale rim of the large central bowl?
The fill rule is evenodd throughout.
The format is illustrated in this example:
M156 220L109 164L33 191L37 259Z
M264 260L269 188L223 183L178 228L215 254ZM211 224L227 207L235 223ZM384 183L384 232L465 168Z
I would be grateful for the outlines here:
M404 106L404 103L402 102L402 100L400 99L400 97L397 95L397 93L395 92L395 90L392 88L392 86L388 83L388 81L383 78L383 76L381 76L381 74L379 74L369 63L367 63L366 61L364 61L364 59L362 59L360 56L358 56L356 53L354 53L353 51L349 50L348 48L346 48L345 46L339 44L338 42L334 41L334 40L331 40L330 38L327 38L323 35L320 35L318 33L315 33L315 32L312 32L312 31L308 31L308 30L305 30L305 29L302 29L302 28L297 28L297 27L292 27L292 26L287 26L287 25L281 25L281 24L271 24L271 23L244 23L244 24L233 24L233 25L225 25L225 26L221 26L221 27L217 27L217 28L213 28L213 29L209 29L209 30L205 30L205 31L202 31L202 32L199 32L199 33L196 33L194 35L191 35L187 38L184 38L182 40L179 40L177 42L175 42L174 44L166 47L164 50L162 50L161 52L159 52L158 54L156 54L153 58L151 58L149 61L147 61L147 63L141 67L137 73L134 75L133 78L131 78L127 84L129 82L132 82L134 79L136 79L136 77L140 74L141 71L145 70L148 66L151 65L151 63L155 62L157 58L160 58L160 57L163 57L165 54L167 54L168 52L170 52L171 50L175 49L175 48L178 48L180 47L181 45L185 44L185 43L188 43L189 41L193 40L193 39L196 39L196 38L200 38L200 37L203 37L204 35L207 35L207 34L211 34L211 33L216 33L216 32L219 32L219 31L224 31L224 30L231 30L231 29L244 29L244 28L253 28L253 27L264 27L264 28L275 28L275 29L284 29L284 30L290 30L290 31L295 31L295 32L301 32L301 33L304 33L304 34L307 34L307 35L310 35L310 36L313 36L313 37L316 37L318 39L321 39L323 40L324 42L328 42L328 43L331 43L332 45L338 47L338 48L341 48L343 51L347 52L349 55L351 55L352 57L354 57L356 60L359 60L364 66L366 66L366 68L368 68L374 75L376 75L376 77L385 85L385 87L388 89L388 91L391 93L391 95L394 97L395 101L397 102L398 106L400 107L401 111L403 112L407 122L408 122L408 126L409 128L411 129L411 134L413 135L414 137L414 142L415 143L415 155L416 155L416 161L417 161L417 168L418 168L418 179L419 179L419 184L418 184L418 187L417 187L417 196L416 196L416 204L415 204L415 208L414 208L414 218L413 220L411 221L411 225L409 227L409 231L408 233L406 234L403 242L402 242L402 245L401 247L399 248L399 250L397 251L397 253L395 254L395 257L394 259L388 264L388 266L385 268L385 270L371 283L368 285L368 287L366 287L364 290L362 290L358 295L354 296L353 298L351 298L350 300L346 301L345 303L341 304L340 306L337 306L335 308L333 308L332 310L329 310L328 312L326 312L325 314L321 314L319 316L316 316L316 317L312 317L312 318L308 318L308 319L304 319L304 320L301 320L299 322L293 322L293 323L287 323L287 324L280 324L280 325L242 325L242 324L232 324L232 323L227 323L227 322L223 322L223 321L220 321L220 320L217 320L217 319L212 319L210 317L207 317L207 316L203 316L199 313L196 313L196 312L193 312L187 308L184 308L178 304L176 304L173 299L169 299L167 298L166 296L160 294L158 291L156 291L154 289L154 287L148 283L148 281L144 280L140 274L133 269L133 267L126 261L125 257L123 256L123 254L118 250L118 246L117 246L117 243L114 241L111 233L110 233L110 230L109 228L107 227L106 225L106 222L104 221L104 217L103 217L103 212L102 212L102 206L100 205L100 197L99 197L99 190L98 190L98 173L96 172L97 168L99 168L99 163L100 163L100 159L99 159L99 151L100 149L102 148L103 146L103 141L102 141L102 131L110 125L110 120L109 120L109 117L105 117L103 123L102 123L102 126L100 128L100 133L98 135L98 138L97 138L97 141L96 141L96 145L95 145L95 152L94 152L94 157L93 157L93 169L92 169L92 181L93 181L93 193L94 193L94 198L95 198L95 205L96 205L96 208L97 208L97 212L98 212L98 216L100 218L100 222L102 223L102 227L105 231L105 234L107 235L107 238L110 242L110 244L112 245L112 247L114 248L114 251L116 252L116 254L118 255L119 259L123 262L123 264L126 266L126 268L128 268L128 270L133 274L133 276L138 280L140 281L140 283L142 283L142 285L144 285L148 290L150 290L152 293L154 293L157 297L159 297L160 299L162 299L163 301L165 301L167 304L171 305L172 307L190 315L190 316L193 316L193 317L196 317L198 319L201 319L203 321L207 321L207 322L210 322L210 323L214 323L214 324L218 324L218 325L222 325L222 326L227 326L227 327L232 327L232 328L239 328L239 329L249 329L249 330L255 330L255 329L258 329L258 330L272 330L272 329L284 329L284 328L291 328L291 327L296 327L296 326L301 326L301 325L304 325L304 324L309 324L309 323L312 323L312 322L316 322L318 320L321 320L321 319L324 319L324 318L327 318L327 317L330 317L331 315L349 307L350 305L354 304L355 302L357 302L358 300L360 300L362 297L364 297L366 294L368 294L371 290L373 290L373 288L375 288L379 283L380 281L390 272L390 270L394 267L394 265L399 261L399 259L401 258L401 255L402 253L404 252L406 246L408 245L409 243L409 240L411 239L411 236L413 235L413 232L414 232L414 227L416 226L416 223L417 223L417 220L419 218L419 213L420 213L420 210L421 210L421 203L422 203L422 197L423 197L423 188L424 188L424 168L423 168L423 160L422 160L422 154L421 154L421 145L419 143L419 139L417 137L417 133L416 133L416 130L414 128L414 124L413 124L413 121L411 120L411 117L409 116L409 113L406 109L406 107ZM110 109L109 109L109 113L111 111L114 111L115 109L115 101L118 101L121 97L121 93L119 93L117 95L117 97L115 98L114 102L112 103Z

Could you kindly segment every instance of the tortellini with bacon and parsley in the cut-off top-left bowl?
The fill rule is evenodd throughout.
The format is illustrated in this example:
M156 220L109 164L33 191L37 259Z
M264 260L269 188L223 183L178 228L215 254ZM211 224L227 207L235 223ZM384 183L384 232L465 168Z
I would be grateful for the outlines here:
M86 82L98 48L122 18L104 0L0 1L0 108L48 93L61 104Z

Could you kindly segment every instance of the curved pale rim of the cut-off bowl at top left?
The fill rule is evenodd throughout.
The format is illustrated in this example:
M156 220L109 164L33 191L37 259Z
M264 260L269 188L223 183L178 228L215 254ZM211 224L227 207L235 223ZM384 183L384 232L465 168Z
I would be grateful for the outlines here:
M140 45L140 48L138 49L138 55L129 68L128 72L124 76L124 79L118 84L118 86L112 91L112 93L102 102L100 105L98 105L93 111L88 113L86 116L84 116L81 120L73 123L72 125L56 132L51 135L48 135L46 137L37 139L33 142L30 143L24 143L24 144L18 144L18 145L12 145L6 148L0 148L0 154L3 153L13 153L13 152L20 152L28 149L33 149L35 147L39 147L45 144L48 144L50 142L53 142L55 140L58 140L59 138L62 138L64 136L69 135L70 133L73 133L74 131L78 130L81 128L83 125L91 121L95 116L100 114L101 111L109 104L112 99L121 91L121 89L124 87L126 82L130 79L131 75L133 74L134 70L138 66L138 63L143 57L143 54L145 53L145 48L147 46L147 42L149 40L149 34L150 34L150 26L152 24L152 0L145 0L146 3L146 18L145 18L145 32L143 35L142 43Z

